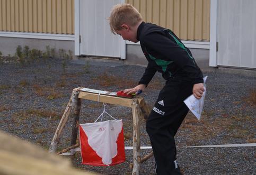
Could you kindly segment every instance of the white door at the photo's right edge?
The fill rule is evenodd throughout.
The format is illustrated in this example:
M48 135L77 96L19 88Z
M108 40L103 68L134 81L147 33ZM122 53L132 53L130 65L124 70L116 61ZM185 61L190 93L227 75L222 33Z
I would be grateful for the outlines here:
M256 68L256 1L219 0L217 65Z

